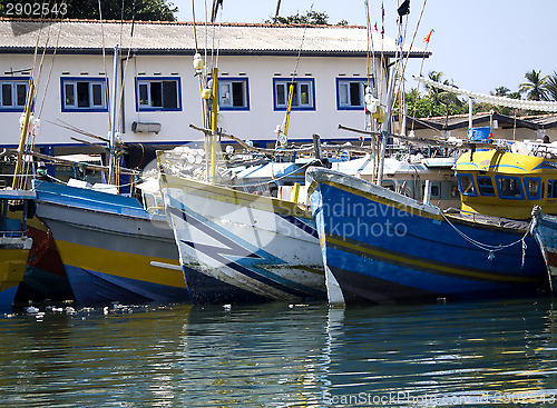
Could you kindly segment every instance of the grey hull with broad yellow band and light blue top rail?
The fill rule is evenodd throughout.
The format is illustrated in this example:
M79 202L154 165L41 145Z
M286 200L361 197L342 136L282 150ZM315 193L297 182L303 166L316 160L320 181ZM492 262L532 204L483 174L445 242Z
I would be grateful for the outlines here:
M172 229L130 197L43 183L37 216L50 228L82 306L187 302Z

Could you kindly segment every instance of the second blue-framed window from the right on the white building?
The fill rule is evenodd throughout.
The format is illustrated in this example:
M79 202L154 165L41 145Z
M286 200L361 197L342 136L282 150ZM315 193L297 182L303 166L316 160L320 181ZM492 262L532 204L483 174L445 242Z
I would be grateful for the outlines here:
M313 78L273 78L274 110L289 108L289 92L293 87L292 110L315 110L315 80Z

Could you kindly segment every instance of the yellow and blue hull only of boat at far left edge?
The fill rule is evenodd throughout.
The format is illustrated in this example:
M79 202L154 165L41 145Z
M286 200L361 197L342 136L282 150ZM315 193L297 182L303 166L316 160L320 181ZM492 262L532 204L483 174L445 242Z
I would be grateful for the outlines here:
M0 312L11 310L31 248L31 238L0 237Z

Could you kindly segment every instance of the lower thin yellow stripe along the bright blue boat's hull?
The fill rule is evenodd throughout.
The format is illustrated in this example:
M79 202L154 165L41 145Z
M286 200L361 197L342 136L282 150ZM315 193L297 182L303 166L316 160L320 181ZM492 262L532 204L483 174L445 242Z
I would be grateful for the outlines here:
M532 283L538 281L538 279L536 279L536 278L499 276L499 275L489 273L489 272L480 272L480 271L473 271L473 270L468 270L468 269L455 268L455 267L451 267L449 265L432 263L432 262L428 262L423 258L410 258L410 257L404 256L400 252L392 253L392 252L375 250L375 249L363 247L363 246L356 245L356 243L346 242L346 241L343 241L342 239L336 239L336 238L332 238L332 237L326 237L326 242L328 242L328 245L333 245L333 246L341 247L341 248L343 247L343 248L350 249L351 251L355 251L355 252L360 252L360 253L363 252L363 253L370 256L371 258L383 258L383 259L389 259L389 260L398 262L398 263L405 263L405 265L413 267L414 269L428 269L428 270L449 273L449 275L457 276L457 277L468 277L468 278L476 278L476 279L482 279L482 280L499 280L499 281L532 282Z

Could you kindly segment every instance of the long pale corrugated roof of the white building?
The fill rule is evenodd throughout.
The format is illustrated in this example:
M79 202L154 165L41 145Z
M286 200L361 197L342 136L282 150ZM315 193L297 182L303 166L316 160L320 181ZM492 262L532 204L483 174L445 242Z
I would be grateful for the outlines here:
M134 27L134 36L130 36ZM194 26L184 22L131 22L62 20L40 22L23 19L0 19L0 52L28 52L35 50L40 32L39 46L55 48L58 33L58 51L98 52L114 48L117 43L138 52L190 53L195 49ZM271 26L271 24L197 24L197 43L205 46L205 36L209 47L218 47L221 53L260 53L260 54L355 54L364 56L368 50L368 31L364 27L340 26ZM49 37L48 43L47 38ZM121 40L120 40L121 39ZM303 39L303 44L302 44ZM393 39L382 41L373 32L375 52L394 54L397 47ZM408 46L404 47L408 51ZM413 49L412 57L422 57L426 52Z

